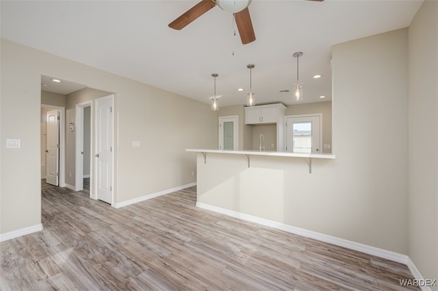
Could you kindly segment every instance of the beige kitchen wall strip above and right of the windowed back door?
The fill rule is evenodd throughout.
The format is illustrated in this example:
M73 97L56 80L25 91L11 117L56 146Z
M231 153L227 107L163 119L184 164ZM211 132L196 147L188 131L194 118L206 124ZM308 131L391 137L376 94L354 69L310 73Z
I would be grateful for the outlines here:
M301 114L322 114L322 143L332 144L331 140L331 101L294 104L287 106L285 116ZM333 148L333 144L331 145ZM332 149L322 149L322 153L332 153Z

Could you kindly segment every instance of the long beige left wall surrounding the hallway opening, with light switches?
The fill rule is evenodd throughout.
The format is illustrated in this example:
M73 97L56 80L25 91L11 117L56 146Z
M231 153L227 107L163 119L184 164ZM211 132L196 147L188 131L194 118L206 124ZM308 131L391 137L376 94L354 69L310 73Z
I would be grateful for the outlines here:
M196 155L185 148L217 147L209 104L4 39L0 69L1 140L21 139L21 149L1 142L0 233L41 222L41 75L114 92L116 202L196 181Z

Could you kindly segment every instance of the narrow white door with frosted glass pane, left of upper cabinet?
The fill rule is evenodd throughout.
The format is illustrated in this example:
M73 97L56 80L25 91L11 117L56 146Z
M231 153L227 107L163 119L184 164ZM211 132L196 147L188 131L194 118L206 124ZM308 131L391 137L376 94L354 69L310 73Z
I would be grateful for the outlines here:
M238 144L238 116L219 117L219 149L237 151Z

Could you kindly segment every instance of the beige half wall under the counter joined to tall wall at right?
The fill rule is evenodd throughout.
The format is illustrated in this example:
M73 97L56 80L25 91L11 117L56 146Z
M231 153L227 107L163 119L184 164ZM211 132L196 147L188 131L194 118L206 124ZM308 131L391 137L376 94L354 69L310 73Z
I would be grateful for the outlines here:
M336 159L209 154L199 201L407 254L407 68L407 29L335 45Z

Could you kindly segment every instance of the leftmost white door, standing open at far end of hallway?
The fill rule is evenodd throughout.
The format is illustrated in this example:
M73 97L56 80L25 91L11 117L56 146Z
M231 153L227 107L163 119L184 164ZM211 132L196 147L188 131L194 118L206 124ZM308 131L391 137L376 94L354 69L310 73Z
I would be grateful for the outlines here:
M46 182L58 186L60 169L60 121L58 111L48 111L46 118Z

